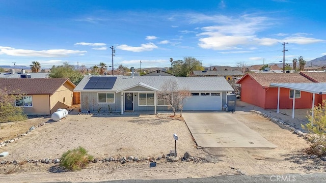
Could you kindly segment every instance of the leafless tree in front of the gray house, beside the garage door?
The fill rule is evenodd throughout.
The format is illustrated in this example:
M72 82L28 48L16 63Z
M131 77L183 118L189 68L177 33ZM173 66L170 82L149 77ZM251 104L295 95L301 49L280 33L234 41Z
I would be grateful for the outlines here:
M181 116L184 99L188 96L190 96L189 90L179 89L177 81L169 79L162 84L161 92L158 93L157 98L159 103L164 103L169 110L172 109L174 115L179 109Z

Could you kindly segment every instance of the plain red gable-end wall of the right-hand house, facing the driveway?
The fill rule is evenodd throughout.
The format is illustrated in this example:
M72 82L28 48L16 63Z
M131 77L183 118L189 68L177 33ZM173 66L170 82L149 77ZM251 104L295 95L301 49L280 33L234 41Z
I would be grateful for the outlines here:
M241 101L265 108L265 88L251 77L241 81Z

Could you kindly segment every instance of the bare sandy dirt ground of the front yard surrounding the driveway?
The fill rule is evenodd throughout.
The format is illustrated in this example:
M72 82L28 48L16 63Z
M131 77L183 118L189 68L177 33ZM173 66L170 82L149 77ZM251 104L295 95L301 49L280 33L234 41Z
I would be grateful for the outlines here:
M92 163L77 172L65 172L55 164L25 163L0 165L0 182L100 181L117 179L170 179L209 177L226 174L283 174L324 172L325 163L303 153L309 143L268 119L238 110L234 115L276 148L204 148L198 149L182 120L155 115L76 115L62 121L45 123L27 136L0 147L10 155L0 161L60 158L68 149L85 147L95 158L137 156L158 157L174 149L173 134L178 134L178 156L188 151L199 162ZM33 125L49 118L33 118L0 125L0 139L14 138ZM20 130L19 130L20 129ZM2 140L3 141L3 140Z

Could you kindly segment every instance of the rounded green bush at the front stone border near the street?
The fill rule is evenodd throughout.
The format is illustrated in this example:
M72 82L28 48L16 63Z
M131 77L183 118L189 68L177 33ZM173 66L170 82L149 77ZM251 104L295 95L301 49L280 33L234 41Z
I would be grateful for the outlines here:
M78 148L68 150L61 156L60 166L68 170L81 170L92 161L92 159L93 156L87 154L87 150L79 146Z

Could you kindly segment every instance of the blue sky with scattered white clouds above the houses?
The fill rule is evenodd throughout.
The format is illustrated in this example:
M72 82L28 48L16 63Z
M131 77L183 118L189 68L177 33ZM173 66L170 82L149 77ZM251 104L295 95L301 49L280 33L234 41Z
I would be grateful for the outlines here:
M0 65L169 67L280 63L326 55L325 1L0 0Z

